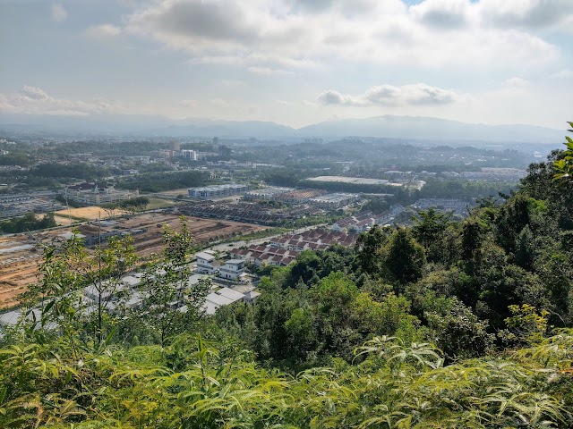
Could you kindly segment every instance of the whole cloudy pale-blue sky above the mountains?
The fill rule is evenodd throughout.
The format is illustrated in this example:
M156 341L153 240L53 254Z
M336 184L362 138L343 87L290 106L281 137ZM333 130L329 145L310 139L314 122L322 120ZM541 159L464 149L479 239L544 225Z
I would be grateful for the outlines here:
M0 0L0 114L565 129L573 0Z

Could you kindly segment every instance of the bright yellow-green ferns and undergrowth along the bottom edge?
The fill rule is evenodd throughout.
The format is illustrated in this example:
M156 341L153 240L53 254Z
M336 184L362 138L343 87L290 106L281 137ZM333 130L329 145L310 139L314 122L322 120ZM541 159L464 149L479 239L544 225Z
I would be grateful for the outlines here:
M0 426L57 428L569 427L573 332L443 366L427 343L377 337L295 376L232 343L83 352L61 341L0 351Z

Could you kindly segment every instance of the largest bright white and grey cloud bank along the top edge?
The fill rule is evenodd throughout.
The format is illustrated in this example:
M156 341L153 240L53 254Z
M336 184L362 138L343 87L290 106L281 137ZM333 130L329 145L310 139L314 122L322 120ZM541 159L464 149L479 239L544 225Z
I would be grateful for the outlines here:
M534 29L561 21L541 13L540 2L553 11L565 1L507 0L511 14L493 10L497 0L424 0L409 8L400 0L158 0L126 17L125 30L187 53L190 63L294 71L339 59L518 69L559 55ZM535 13L546 16L535 20ZM573 10L565 4L562 15Z

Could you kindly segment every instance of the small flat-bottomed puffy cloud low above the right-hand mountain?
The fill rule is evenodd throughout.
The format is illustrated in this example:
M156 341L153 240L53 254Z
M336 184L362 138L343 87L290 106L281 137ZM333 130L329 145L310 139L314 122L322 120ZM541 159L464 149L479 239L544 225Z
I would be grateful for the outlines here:
M449 105L463 96L450 89L432 87L424 83L415 83L396 87L380 85L369 88L363 94L343 95L329 89L322 92L318 101L322 105Z

